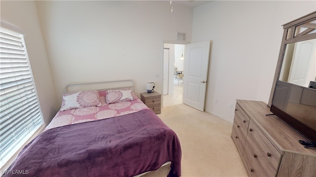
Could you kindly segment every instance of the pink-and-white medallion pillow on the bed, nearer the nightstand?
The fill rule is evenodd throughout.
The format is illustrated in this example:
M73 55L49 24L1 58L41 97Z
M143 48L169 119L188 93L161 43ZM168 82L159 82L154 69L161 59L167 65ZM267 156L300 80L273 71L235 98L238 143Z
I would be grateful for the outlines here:
M108 90L107 95L105 96L105 101L107 104L111 104L132 101L136 98L137 96L133 90Z

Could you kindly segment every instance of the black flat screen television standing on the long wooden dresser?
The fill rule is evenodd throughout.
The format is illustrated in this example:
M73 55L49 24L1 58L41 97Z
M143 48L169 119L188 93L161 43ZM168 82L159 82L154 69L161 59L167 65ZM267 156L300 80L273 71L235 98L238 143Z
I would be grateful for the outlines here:
M316 89L277 81L270 111L316 142Z

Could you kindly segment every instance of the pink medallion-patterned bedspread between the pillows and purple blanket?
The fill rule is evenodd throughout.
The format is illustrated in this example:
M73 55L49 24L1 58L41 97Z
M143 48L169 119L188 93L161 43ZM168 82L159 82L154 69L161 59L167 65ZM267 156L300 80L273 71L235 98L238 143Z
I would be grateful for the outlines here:
M59 126L123 116L126 114L149 109L138 98L132 101L107 104L105 102L104 92L99 92L99 94L101 106L91 106L67 111L58 111L56 116L51 120L44 131Z

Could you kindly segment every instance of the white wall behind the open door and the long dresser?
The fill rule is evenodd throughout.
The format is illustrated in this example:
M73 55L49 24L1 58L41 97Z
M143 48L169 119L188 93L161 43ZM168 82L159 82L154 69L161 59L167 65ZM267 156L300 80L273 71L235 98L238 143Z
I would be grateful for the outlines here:
M236 99L268 103L281 25L315 10L314 0L213 1L194 8L192 42L212 40L205 110L233 122Z

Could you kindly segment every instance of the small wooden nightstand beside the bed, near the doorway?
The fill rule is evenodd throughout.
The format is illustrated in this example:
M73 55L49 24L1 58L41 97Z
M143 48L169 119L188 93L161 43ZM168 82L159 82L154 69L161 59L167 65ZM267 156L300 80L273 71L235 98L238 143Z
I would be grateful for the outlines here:
M148 106L156 114L161 113L161 94L157 91L152 93L141 93L140 100L142 100L143 103L145 103L145 105Z

